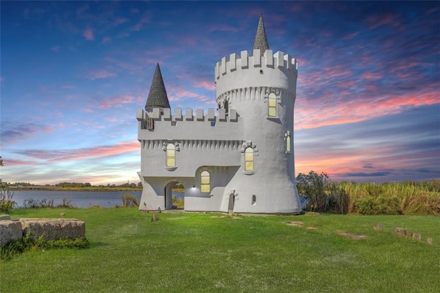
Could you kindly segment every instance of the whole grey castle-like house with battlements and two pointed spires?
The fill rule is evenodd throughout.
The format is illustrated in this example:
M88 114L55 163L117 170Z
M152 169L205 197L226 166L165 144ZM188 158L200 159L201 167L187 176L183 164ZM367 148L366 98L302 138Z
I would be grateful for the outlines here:
M230 54L214 68L218 112L174 109L159 65L145 111L138 109L143 191L140 210L300 213L294 166L298 64L267 43L260 17L252 52Z

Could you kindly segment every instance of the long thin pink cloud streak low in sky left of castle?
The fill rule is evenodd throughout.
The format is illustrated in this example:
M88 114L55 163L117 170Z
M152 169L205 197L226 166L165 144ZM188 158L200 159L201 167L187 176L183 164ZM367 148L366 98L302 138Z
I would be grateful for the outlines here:
M113 155L122 155L131 151L139 151L139 142L118 142L114 145L92 146L84 149L63 149L63 150L25 150L15 151L20 155L25 155L37 160L47 162L70 162L85 160L89 158L103 158Z

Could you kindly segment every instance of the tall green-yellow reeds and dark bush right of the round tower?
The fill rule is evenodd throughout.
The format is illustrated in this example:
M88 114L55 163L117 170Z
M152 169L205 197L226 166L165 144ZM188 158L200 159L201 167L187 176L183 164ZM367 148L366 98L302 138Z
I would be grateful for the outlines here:
M305 210L364 215L440 215L440 181L331 182L327 173L296 177Z

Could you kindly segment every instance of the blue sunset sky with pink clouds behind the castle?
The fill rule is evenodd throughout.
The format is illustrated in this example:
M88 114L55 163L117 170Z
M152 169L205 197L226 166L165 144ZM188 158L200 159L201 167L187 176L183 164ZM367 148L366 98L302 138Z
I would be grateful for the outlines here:
M440 179L439 1L1 1L5 182L139 182L136 109L159 63L170 107L216 108L214 65L298 60L296 174Z

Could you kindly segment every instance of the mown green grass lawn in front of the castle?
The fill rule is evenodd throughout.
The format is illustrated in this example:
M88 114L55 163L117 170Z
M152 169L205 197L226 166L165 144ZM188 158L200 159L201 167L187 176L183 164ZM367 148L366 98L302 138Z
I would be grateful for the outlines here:
M86 222L90 248L25 252L0 263L0 292L438 292L440 287L440 217L233 219L160 213L152 222L153 213L137 208L17 209L12 217L60 213ZM398 237L396 227L420 233L422 240Z

